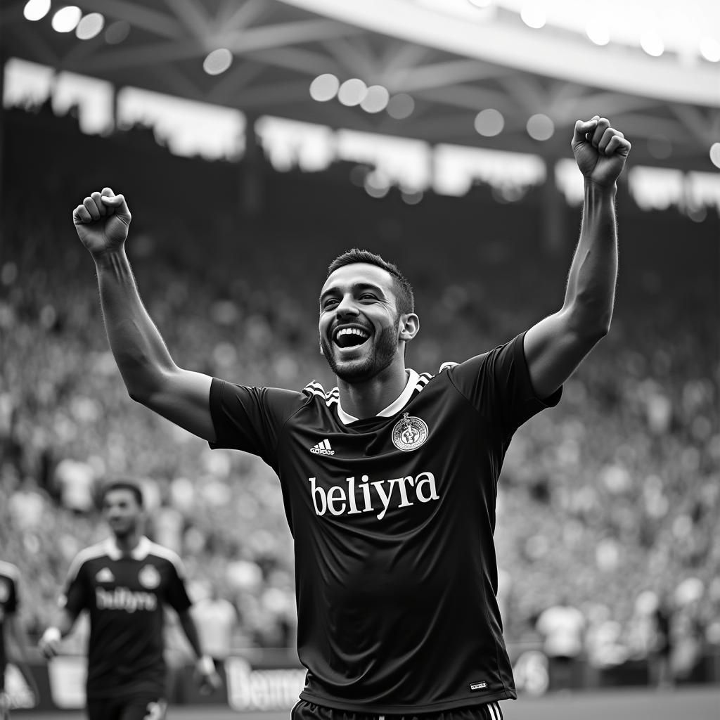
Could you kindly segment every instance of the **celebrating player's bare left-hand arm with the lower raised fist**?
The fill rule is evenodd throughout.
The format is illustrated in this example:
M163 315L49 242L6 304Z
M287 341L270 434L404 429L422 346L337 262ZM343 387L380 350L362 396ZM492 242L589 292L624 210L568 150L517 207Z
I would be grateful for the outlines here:
M78 236L95 261L110 349L133 400L215 441L212 378L176 366L145 310L125 255L130 220L125 198L109 188L92 193L73 212Z

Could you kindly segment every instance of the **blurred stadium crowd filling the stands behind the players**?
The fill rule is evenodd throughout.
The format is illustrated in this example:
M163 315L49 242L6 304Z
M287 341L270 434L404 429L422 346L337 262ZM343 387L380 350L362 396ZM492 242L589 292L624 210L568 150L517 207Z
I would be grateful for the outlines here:
M89 142L62 122L73 143ZM9 123L18 135L23 125ZM147 152L138 142L136 156ZM179 161L153 152L156 172L171 174ZM126 475L142 480L148 534L181 554L195 597L214 588L235 606L234 647L292 645L292 540L273 472L252 456L210 451L133 403L107 348L92 264L70 215L89 183L108 181L94 170L67 186L70 171L58 158L39 181L52 198L42 213L9 182L17 174L27 178L17 186L28 186L32 162L13 160L11 150L0 244L0 547L22 572L27 629L48 624L73 555L105 534L97 487ZM203 178L228 172L183 163ZM181 181L158 197L153 178L113 172L135 214L128 251L140 292L179 364L243 384L300 388L318 379L331 387L317 351L316 294L325 266L354 244L387 254L415 284L423 329L409 364L419 371L509 340L562 298L567 260L533 244L533 197L512 221L513 238L524 240L508 231L503 244L504 220L492 217L508 208L493 209L483 189L398 207L396 221L388 219L392 199L338 187L333 173L342 170L267 168L266 214L235 224L217 212L226 198L208 212L204 196L177 201ZM300 199L279 217L274 210L291 194ZM340 218L319 205L306 210L318 194L323 205L361 212L360 230L339 236ZM567 382L559 407L518 431L505 459L500 597L510 642L536 636L541 611L569 599L585 618L583 652L596 667L652 655L652 618L667 606L682 678L706 644L720 644L718 269L703 261L716 252L705 246L718 219L711 213L703 229L677 210L641 215L624 202L611 333ZM457 209L464 237L450 237L448 208ZM484 247L468 237L478 208L492 228ZM404 220L410 211L417 217ZM437 261L436 238L423 237L434 226L449 233ZM699 238L680 257L676 238L690 230ZM693 261L687 253L696 250ZM696 264L693 276L682 263Z

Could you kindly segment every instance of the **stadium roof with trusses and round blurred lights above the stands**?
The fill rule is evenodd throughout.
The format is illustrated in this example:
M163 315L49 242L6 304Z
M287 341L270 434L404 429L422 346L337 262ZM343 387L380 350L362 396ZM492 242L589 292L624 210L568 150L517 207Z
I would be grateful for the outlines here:
M624 27L633 18L657 20L657 32L644 39L636 27L635 43L590 16L584 32L568 22L595 5L577 0L572 7L536 2L534 18L520 0L84 0L82 14L103 21L102 32L86 40L53 29L60 4L36 22L24 17L26 0L3 5L4 58L234 107L248 117L555 158L567 156L578 117L601 113L633 141L635 163L684 170L713 170L708 151L720 141L720 10L701 0L685 0L672 17L660 10L653 16L641 0L608 0L603 13L620 13ZM545 17L539 7L547 8ZM680 41L666 33L663 52L662 33L673 22ZM703 26L715 36L702 36ZM703 53L690 40L705 42ZM230 53L208 58L220 48ZM226 58L230 66L217 72ZM317 94L330 99L313 99L312 81L328 73L400 96L392 101L396 117L339 102L332 78ZM375 92L377 108L387 97ZM478 119L482 110L495 112ZM528 119L538 114L552 121L536 118L536 138L554 128L547 140L528 134Z

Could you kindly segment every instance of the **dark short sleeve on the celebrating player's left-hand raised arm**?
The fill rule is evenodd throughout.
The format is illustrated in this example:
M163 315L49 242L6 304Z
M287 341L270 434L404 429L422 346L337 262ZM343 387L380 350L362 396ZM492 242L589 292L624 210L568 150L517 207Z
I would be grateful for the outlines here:
M243 450L273 465L280 429L306 401L305 395L292 390L247 387L213 378L210 413L217 439L210 447Z

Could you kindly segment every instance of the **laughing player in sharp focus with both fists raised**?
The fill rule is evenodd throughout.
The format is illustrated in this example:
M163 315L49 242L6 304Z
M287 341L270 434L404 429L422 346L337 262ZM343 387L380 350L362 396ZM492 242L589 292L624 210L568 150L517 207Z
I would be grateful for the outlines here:
M320 291L326 391L245 387L181 369L140 300L109 188L73 212L96 263L109 344L133 400L210 442L263 458L294 537L294 720L425 714L498 720L515 698L495 598L498 475L521 423L608 332L617 273L616 179L630 143L603 117L572 138L585 176L562 307L503 346L436 375L405 367L419 329L410 284L367 251L336 258Z

